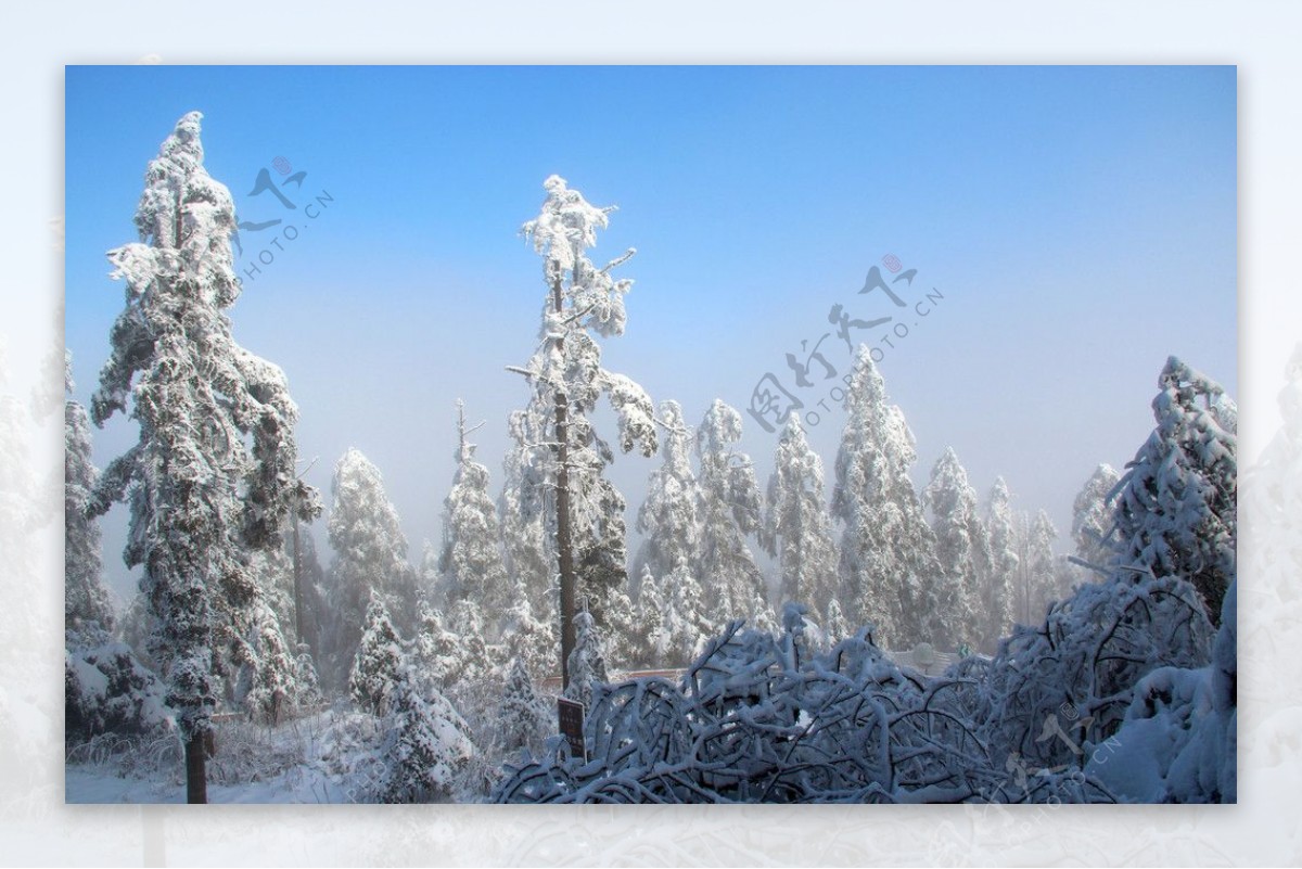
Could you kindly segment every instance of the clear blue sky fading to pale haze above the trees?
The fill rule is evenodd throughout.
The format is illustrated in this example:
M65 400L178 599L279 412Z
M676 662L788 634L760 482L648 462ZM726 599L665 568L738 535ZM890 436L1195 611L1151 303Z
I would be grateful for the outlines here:
M595 259L638 248L607 366L694 421L716 397L745 408L767 372L815 407L822 369L799 390L785 354L832 330L836 303L892 315L857 293L884 255L917 268L897 285L910 315L889 324L909 334L863 333L918 438L915 479L953 446L983 496L1004 475L1062 542L1094 466L1121 466L1151 429L1169 354L1238 392L1232 66L70 66L66 340L83 401L122 304L104 252L134 241L146 164L191 109L240 219L283 220L242 234L241 268L272 261L230 312L237 340L289 375L309 477L328 492L362 449L413 550L439 536L457 397L487 420L479 455L500 483L505 416L526 401L504 367L530 355L543 290L517 232L551 173L618 204ZM306 172L284 189L294 211L250 195L259 169L284 181L277 156ZM845 345L822 349L844 373ZM841 419L811 427L828 468ZM773 437L746 423L763 484ZM100 463L130 437L111 425ZM634 509L654 466L616 463Z

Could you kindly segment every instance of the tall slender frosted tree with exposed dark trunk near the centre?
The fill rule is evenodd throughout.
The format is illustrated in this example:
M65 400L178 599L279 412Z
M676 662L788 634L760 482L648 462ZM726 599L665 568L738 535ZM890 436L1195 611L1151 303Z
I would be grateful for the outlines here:
M605 395L618 416L618 442L650 457L656 451L652 405L646 392L622 375L602 368L596 337L624 332L624 295L631 281L611 272L626 261L629 250L603 267L587 258L596 232L609 221L611 208L591 206L564 178L543 183L547 199L523 234L543 258L547 301L536 353L521 371L534 394L523 431L534 457L529 463L546 468L553 493L551 527L560 575L562 679L569 652L577 640L574 615L578 595L600 617L607 592L626 583L624 555L624 502L603 476L613 461L609 445L596 436L587 415ZM581 575L582 574L582 575Z

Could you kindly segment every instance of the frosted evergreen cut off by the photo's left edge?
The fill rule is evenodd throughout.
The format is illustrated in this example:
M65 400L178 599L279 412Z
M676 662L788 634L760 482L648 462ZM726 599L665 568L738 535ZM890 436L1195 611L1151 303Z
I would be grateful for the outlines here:
M72 392L72 379L66 377ZM99 468L91 461L90 416L64 402L64 630L96 634L113 630L113 606L102 582L99 520L87 514ZM89 637L87 637L89 639Z

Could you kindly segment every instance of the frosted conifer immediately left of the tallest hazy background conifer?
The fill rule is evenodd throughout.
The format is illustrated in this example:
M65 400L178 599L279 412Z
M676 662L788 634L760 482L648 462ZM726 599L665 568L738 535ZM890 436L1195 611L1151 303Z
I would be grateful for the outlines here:
M823 459L810 449L799 414L777 441L760 542L779 559L781 598L827 614L836 596L836 550L823 500Z

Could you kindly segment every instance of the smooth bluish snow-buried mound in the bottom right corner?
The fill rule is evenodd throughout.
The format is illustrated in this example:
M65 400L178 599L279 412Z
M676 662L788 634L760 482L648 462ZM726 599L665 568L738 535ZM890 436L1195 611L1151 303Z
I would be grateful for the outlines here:
M1199 670L1160 667L1141 679L1121 729L1091 755L1087 771L1118 797L1238 800L1236 585L1230 583L1221 602L1211 663Z

